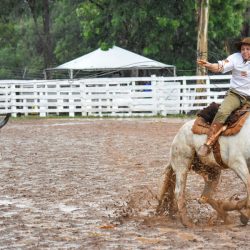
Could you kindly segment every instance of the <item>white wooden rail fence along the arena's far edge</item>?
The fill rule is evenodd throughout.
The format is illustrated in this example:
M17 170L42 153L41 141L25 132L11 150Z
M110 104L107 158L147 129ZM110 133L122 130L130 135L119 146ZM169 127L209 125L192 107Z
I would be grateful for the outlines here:
M189 113L212 101L220 103L230 78L214 75L0 80L0 114L74 117Z

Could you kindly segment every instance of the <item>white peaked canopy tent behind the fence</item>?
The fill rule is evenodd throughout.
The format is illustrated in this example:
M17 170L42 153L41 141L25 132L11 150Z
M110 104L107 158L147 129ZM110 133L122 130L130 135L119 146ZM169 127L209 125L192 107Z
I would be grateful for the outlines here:
M113 46L109 50L100 48L78 57L72 61L66 62L53 69L47 70L68 70L70 78L73 79L74 71L115 71L132 69L164 69L172 68L173 75L176 73L174 65L167 65L136 53Z

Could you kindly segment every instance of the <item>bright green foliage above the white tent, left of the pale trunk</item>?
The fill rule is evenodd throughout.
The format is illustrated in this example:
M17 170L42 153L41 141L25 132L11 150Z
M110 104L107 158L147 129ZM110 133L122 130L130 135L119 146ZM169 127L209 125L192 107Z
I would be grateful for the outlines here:
M152 59L190 67L196 57L193 1L86 1L77 10L84 39L116 44ZM191 57L190 57L191 55Z

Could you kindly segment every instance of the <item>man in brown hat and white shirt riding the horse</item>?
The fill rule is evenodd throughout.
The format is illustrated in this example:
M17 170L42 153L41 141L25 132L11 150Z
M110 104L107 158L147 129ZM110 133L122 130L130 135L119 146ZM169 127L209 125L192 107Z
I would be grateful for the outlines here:
M206 60L197 60L200 66L212 72L226 73L232 71L230 89L221 103L218 112L211 124L207 141L198 150L198 155L207 156L220 133L225 130L225 121L229 115L244 104L250 104L250 37L242 39L236 44L237 53L217 63Z

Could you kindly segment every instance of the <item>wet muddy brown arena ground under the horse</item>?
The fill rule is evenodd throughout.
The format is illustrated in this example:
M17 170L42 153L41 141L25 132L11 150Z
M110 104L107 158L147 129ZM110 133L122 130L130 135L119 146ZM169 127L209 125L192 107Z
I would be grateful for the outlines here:
M1 130L0 249L250 249L239 214L223 225L197 202L194 229L157 216L156 195L181 119L11 119ZM218 198L244 197L223 173Z

